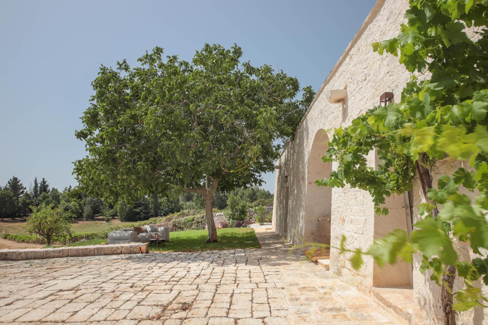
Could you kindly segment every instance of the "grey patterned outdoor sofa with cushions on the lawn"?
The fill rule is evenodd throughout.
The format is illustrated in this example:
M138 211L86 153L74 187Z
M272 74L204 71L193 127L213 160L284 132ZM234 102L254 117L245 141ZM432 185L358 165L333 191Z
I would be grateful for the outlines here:
M169 242L169 228L157 227L153 224L148 224L141 227L122 228L108 233L108 244L118 243L148 243L154 234L158 238Z

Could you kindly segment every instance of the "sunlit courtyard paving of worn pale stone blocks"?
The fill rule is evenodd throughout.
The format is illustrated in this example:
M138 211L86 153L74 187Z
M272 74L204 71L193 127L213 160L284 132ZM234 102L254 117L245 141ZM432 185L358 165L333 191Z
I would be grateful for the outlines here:
M0 324L399 324L270 231L262 249L0 262Z

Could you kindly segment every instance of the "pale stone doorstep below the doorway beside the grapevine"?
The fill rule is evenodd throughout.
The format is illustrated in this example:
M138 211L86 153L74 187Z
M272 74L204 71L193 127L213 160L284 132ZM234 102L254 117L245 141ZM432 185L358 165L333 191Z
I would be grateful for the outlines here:
M376 288L373 287L373 297L378 305L385 310L395 313L405 324L412 324L413 289L411 287Z

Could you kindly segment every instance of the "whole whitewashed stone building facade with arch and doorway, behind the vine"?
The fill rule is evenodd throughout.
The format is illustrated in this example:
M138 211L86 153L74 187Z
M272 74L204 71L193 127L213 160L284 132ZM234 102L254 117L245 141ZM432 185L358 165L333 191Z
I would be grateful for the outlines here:
M378 0L330 72L300 122L293 141L277 160L273 208L273 228L292 244L319 242L339 246L341 236L351 248L366 248L374 239L393 229L411 231L419 217L416 206L423 201L418 180L409 194L387 199L387 216L374 213L370 195L350 188L318 187L314 181L328 177L336 163L323 163L321 157L334 128L346 127L358 115L380 104L380 96L393 93L399 99L411 74L391 55L374 53L371 43L396 37L404 22L407 0ZM369 166L378 157L372 152ZM434 176L457 168L448 160L437 163ZM434 183L437 180L434 179ZM468 248L458 245L460 255L470 258ZM372 258L365 259L358 271L347 259L331 249L330 270L348 284L391 307L407 323L442 324L440 287L421 274L421 260L379 268ZM462 283L457 281L456 286ZM396 297L396 298L395 298ZM401 297L398 299L398 297ZM403 299L402 297L406 297ZM488 308L487 308L488 309ZM457 324L488 324L482 308L461 313Z

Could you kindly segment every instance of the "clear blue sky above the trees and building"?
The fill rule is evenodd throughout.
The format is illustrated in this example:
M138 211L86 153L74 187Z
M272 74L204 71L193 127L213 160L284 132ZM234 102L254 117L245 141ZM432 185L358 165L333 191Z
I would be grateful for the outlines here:
M0 1L0 185L12 175L76 185L75 136L100 64L131 65L158 45L190 60L237 43L317 91L375 0ZM264 175L274 192L274 173Z

